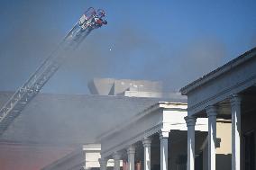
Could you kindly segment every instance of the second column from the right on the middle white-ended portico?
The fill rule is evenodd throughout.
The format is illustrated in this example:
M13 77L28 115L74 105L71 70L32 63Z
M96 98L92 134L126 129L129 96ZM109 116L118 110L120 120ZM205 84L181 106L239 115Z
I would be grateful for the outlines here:
M144 170L151 170L151 139L144 138L142 144L144 147Z

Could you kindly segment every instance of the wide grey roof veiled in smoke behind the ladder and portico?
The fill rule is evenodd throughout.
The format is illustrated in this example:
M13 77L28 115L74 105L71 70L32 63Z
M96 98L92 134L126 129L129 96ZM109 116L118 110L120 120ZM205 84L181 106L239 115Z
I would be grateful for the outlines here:
M11 94L0 93L0 104L3 105ZM187 103L184 98L39 94L5 130L0 141L58 145L93 143L105 130L160 101Z

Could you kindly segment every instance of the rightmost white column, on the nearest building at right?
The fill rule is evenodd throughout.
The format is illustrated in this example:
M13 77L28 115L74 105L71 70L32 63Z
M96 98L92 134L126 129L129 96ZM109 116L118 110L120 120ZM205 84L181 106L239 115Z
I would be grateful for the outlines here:
M241 137L241 98L233 94L231 100L232 114L232 170L240 170L240 137Z

